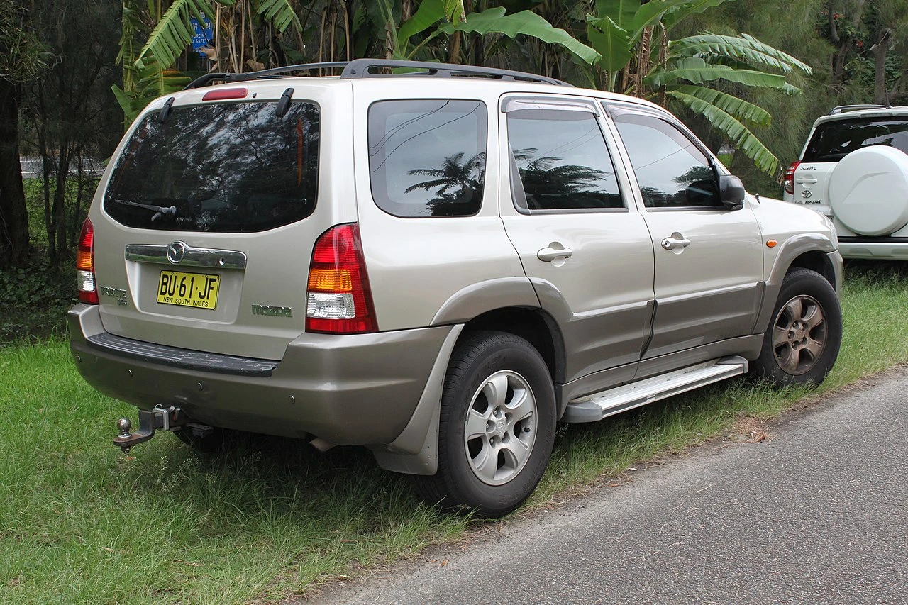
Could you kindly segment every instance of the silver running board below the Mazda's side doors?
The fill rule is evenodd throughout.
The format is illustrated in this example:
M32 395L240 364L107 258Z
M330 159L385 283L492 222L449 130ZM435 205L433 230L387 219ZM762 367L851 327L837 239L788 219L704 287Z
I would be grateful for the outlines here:
M646 403L691 391L713 382L747 373L747 360L730 355L711 362L697 363L607 391L586 395L568 403L561 422L597 422Z

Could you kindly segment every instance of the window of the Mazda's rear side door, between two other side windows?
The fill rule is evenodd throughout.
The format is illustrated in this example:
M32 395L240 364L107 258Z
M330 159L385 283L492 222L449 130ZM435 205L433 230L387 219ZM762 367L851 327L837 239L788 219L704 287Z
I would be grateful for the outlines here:
M615 165L592 113L509 112L508 141L520 175L520 183L514 183L518 205L530 211L625 207Z

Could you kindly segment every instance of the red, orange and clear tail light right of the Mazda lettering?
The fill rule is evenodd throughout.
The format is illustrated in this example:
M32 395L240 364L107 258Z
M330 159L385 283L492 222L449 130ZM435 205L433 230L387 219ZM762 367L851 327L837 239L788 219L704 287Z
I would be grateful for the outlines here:
M360 226L339 224L322 233L312 249L306 293L306 332L376 332Z

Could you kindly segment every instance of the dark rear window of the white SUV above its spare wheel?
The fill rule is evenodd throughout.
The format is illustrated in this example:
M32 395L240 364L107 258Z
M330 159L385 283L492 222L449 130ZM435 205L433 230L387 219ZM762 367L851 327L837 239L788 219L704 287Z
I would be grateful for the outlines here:
M908 120L903 117L864 118L820 124L802 161L838 162L845 155L871 145L895 147L908 154Z

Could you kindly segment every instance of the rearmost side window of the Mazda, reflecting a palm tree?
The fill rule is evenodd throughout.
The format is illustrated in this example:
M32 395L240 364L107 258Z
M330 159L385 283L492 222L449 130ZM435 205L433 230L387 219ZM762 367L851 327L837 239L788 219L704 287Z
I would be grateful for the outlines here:
M369 172L375 203L404 217L478 213L487 119L480 101L372 104Z

